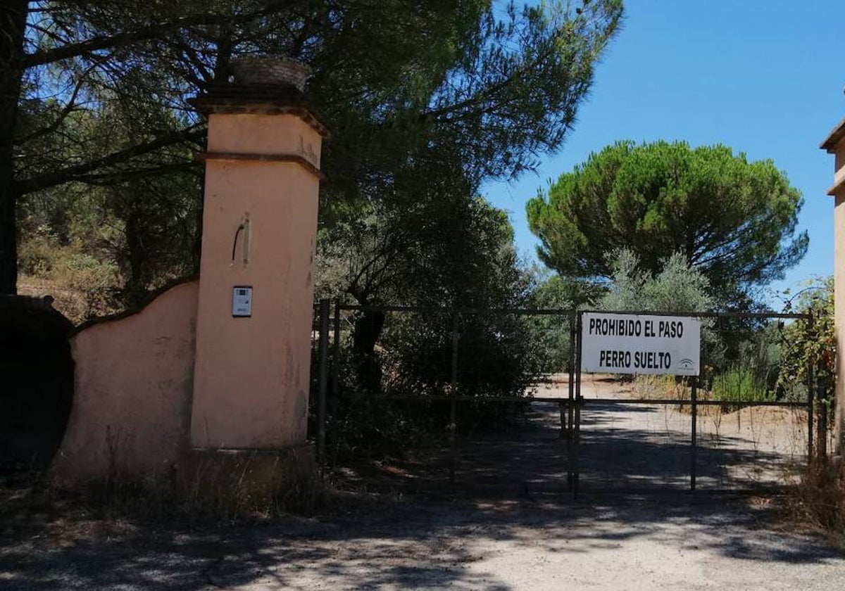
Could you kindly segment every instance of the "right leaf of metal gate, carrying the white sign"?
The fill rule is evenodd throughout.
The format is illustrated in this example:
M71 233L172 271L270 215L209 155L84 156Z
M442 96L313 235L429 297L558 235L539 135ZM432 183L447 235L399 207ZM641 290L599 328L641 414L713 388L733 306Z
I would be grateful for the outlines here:
M581 373L583 313L576 321L578 361L570 406L569 481L575 496L582 490L760 490L796 477L813 453L814 416L825 406L811 366L802 388L788 395L774 396L756 385L748 359L721 377L657 378L652 393L616 382L613 393L597 384L608 378ZM805 314L627 313L699 317L714 333L748 330L750 324L759 332L772 321L813 322ZM702 351L702 366L708 366L706 354ZM826 420L821 417L816 425L824 453Z

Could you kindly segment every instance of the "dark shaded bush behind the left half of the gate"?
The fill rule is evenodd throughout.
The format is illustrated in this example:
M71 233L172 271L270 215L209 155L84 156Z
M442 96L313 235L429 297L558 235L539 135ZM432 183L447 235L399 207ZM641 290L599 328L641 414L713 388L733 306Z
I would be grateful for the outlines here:
M466 314L458 324L458 371L453 387L454 326L453 315L445 310L387 314L374 351L379 393L412 397L409 401L385 399L367 388L358 377L352 335L348 335L341 359L332 360L339 364L343 385L341 396L329 401L330 457L401 458L412 448L442 443L449 432L450 402L426 397L450 393L525 396L548 366L531 318ZM519 418L523 408L521 404L461 402L457 430L502 428Z

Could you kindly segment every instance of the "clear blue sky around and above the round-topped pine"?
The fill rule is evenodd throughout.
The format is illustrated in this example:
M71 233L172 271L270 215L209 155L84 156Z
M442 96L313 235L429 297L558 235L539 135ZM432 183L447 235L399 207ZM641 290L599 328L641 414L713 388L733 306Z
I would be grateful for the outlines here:
M845 0L626 0L625 9L559 154L537 174L482 187L509 212L519 250L536 259L525 203L550 179L617 139L681 139L771 159L803 193L810 250L773 290L832 274L833 157L818 146L845 117Z

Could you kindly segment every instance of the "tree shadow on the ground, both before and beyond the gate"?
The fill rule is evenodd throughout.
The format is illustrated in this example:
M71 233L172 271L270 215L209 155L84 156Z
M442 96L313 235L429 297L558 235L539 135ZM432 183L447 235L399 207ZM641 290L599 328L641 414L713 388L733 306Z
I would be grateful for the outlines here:
M526 568L502 567L508 556L566 564L648 544L766 568L837 560L818 539L777 531L774 510L748 496L670 488L648 496L585 491L573 500L551 410L504 439L462 441L454 488L448 462L370 464L373 474L350 468L341 485L355 492L338 492L317 518L198 527L103 520L74 503L8 503L0 511L0 587L508 589L513 576L502 573ZM629 432L625 453L670 458L661 473L683 479L688 447L652 439ZM619 442L608 446L604 453L619 453ZM634 464L629 475L647 477L649 466Z

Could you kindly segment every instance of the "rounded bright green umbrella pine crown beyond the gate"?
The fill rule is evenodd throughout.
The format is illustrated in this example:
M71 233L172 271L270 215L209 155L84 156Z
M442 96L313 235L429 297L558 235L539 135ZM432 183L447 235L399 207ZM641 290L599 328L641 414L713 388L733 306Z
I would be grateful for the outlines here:
M620 248L657 274L681 252L722 305L748 305L750 290L804 257L802 203L771 160L750 162L723 145L623 141L560 176L526 210L539 258L559 274L611 279Z

